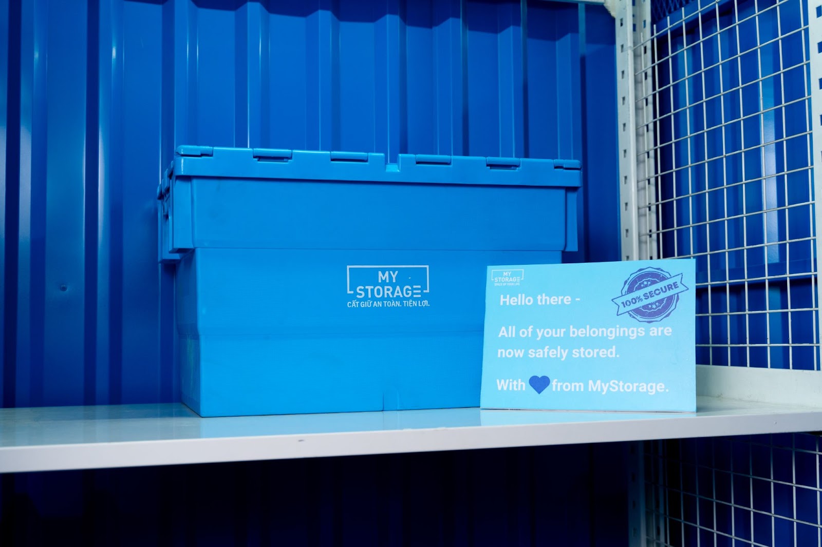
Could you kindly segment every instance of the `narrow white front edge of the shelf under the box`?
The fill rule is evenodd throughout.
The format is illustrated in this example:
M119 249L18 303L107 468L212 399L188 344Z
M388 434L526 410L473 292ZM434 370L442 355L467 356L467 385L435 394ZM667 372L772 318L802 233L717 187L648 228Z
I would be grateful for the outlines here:
M245 462L822 430L822 410L0 448L0 472Z

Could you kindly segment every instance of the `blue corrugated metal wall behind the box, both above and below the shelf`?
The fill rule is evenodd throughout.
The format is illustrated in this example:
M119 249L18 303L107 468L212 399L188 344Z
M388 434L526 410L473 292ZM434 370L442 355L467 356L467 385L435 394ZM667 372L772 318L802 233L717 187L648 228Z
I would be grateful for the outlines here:
M178 400L176 145L581 159L566 258L618 260L613 44L535 0L0 0L2 406ZM0 544L624 545L623 452L6 475Z

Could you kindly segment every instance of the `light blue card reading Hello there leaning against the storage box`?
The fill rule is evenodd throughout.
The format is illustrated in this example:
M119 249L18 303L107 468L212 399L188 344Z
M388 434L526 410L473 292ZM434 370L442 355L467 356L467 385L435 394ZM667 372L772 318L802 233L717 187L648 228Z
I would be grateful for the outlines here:
M695 411L695 261L488 268L480 406Z

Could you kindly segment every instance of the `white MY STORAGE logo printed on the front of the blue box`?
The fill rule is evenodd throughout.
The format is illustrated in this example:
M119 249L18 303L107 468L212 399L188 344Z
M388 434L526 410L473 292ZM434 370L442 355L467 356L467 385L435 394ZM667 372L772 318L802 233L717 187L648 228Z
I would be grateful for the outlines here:
M347 266L346 286L356 307L428 306L423 296L429 291L427 265Z

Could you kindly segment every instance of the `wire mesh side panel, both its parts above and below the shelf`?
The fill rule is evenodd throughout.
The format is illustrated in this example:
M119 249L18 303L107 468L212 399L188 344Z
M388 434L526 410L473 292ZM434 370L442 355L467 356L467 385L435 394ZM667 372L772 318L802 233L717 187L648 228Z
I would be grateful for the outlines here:
M663 0L635 40L638 248L696 260L700 364L820 370L810 2ZM818 435L643 448L643 545L822 545Z

